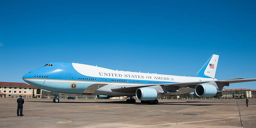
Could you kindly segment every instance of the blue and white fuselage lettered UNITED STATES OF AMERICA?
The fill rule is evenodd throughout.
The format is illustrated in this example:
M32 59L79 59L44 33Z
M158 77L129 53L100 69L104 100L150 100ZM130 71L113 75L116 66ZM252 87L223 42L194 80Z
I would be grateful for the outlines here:
M217 79L118 71L78 63L52 62L42 68L30 71L23 76L23 80L33 86L53 92L135 96L135 92L115 92L111 90L111 87L116 85L160 85L177 82L216 81ZM76 85L72 87L72 83Z

